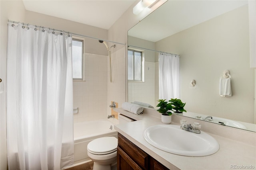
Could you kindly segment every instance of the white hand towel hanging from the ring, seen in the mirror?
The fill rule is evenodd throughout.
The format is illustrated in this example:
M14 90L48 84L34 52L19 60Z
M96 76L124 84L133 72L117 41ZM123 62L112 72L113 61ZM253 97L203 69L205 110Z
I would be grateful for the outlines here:
M220 96L222 96L222 97L232 96L230 77L228 77L228 78L221 77L220 78Z

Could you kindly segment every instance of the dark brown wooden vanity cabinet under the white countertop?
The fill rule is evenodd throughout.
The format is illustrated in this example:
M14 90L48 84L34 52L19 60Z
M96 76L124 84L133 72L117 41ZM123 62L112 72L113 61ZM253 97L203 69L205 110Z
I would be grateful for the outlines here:
M118 170L168 170L160 162L118 133Z

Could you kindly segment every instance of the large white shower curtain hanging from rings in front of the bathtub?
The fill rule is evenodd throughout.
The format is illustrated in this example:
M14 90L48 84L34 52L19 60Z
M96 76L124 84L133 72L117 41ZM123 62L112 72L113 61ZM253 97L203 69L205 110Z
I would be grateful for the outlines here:
M72 36L8 23L9 170L73 164Z

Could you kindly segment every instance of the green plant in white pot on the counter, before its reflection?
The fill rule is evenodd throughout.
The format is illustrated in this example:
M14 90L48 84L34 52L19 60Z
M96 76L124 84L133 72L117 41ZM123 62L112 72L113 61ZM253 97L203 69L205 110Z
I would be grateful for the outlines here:
M158 105L156 107L159 107L157 111L159 113L162 113L161 115L161 121L164 124L170 124L172 122L172 104L165 101L166 99L159 99Z

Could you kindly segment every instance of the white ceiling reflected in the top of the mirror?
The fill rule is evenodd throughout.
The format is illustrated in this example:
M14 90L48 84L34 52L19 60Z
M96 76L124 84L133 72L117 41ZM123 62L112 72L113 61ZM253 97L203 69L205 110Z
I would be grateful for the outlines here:
M156 42L246 4L247 0L168 0L128 35Z

